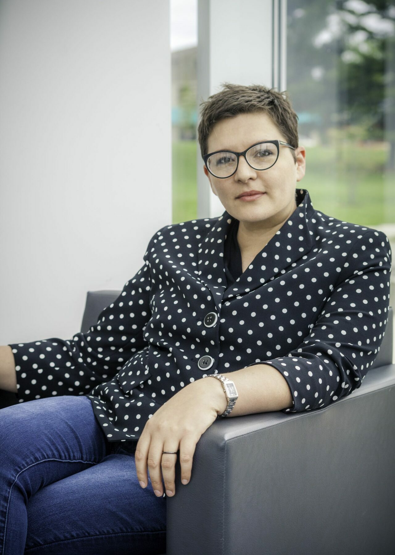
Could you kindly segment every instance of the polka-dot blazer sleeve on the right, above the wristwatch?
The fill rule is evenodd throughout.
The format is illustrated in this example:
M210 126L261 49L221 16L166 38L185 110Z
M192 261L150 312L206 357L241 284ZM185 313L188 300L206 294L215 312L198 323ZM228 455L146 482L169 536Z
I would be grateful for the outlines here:
M361 386L377 357L388 319L392 254L387 235L369 230L356 241L304 341L286 356L256 361L281 372L293 406L323 408Z

